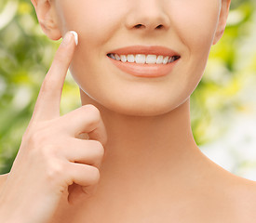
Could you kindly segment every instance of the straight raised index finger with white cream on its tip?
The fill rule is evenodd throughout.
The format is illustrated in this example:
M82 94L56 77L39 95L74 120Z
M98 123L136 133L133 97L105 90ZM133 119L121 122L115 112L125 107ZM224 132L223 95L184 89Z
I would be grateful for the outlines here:
M48 120L60 116L61 92L66 73L74 55L75 40L73 32L65 34L52 65L47 72L35 103L33 118Z

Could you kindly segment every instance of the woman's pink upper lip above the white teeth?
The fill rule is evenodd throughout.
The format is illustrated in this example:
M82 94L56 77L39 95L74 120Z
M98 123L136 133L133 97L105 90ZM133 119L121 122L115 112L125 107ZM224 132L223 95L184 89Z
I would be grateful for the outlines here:
M161 55L161 56L180 56L174 50L166 46L127 46L123 48L115 49L108 54L118 54L118 55L129 55L129 54L145 54L145 55Z

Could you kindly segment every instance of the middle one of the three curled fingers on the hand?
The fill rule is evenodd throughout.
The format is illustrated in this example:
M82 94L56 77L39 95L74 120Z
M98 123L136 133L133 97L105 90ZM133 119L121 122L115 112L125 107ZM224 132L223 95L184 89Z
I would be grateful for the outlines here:
M100 141L72 138L65 142L64 156L73 163L89 164L100 168L104 148Z

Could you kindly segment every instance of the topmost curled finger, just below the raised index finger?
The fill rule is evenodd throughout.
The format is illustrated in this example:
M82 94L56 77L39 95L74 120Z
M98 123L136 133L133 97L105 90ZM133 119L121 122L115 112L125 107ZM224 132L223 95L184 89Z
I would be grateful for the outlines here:
M67 129L71 136L78 138L81 133L88 133L90 139L107 142L105 125L101 119L101 112L91 104L84 105L61 117L61 129Z

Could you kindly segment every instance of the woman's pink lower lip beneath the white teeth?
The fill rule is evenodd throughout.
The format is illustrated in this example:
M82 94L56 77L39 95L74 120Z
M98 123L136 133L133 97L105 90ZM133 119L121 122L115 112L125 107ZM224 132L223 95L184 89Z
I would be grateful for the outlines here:
M139 63L129 63L122 62L115 59L110 59L114 65L123 72L130 73L134 76L138 77L161 77L168 75L169 72L172 71L176 63L177 59L168 64L139 64Z

